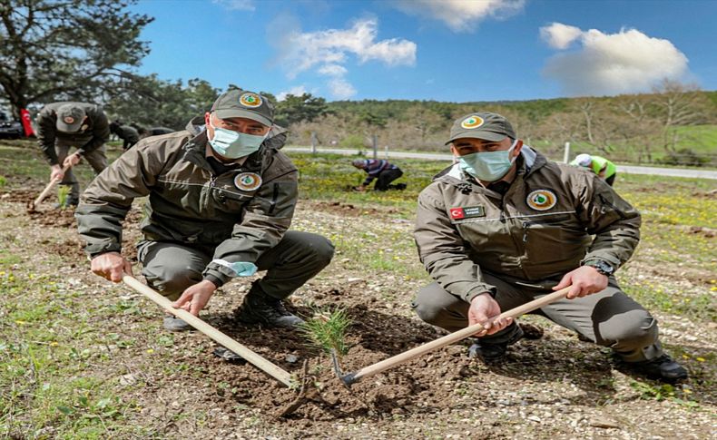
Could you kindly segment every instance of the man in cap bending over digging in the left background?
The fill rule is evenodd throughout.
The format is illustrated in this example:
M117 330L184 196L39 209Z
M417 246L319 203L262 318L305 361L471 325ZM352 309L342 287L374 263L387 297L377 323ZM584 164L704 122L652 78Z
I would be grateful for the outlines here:
M61 185L71 187L65 207L77 205L80 184L64 167L74 167L83 157L99 174L107 167L104 143L109 139L110 122L99 105L49 103L37 115L37 142L50 163L50 180L62 179ZM69 154L72 147L77 151Z

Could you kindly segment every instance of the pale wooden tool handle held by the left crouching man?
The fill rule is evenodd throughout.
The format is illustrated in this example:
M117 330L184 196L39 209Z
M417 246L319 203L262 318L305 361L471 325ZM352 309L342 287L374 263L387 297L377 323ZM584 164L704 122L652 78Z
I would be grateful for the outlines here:
M162 297L162 295L154 291L149 286L142 284L142 282L140 282L138 279L135 279L130 275L124 275L122 280L127 286L138 291L145 297L152 299L152 301L157 303L157 305L159 305L161 308L172 313L172 315L174 315L175 317L181 318L193 328L196 328L197 330L201 331L201 333L203 333L204 335L211 337L211 339L221 344L221 346L227 347L234 353L245 358L255 367L258 367L261 371L265 372L269 376L274 377L285 386L292 385L291 375L288 371L285 371L280 367L277 367L276 365L272 364L269 360L260 357L260 355L254 353L248 347L242 346L239 342L221 333L221 331L217 330L216 328L211 327L209 324L202 321L200 318L195 317L183 308L173 308L172 301Z

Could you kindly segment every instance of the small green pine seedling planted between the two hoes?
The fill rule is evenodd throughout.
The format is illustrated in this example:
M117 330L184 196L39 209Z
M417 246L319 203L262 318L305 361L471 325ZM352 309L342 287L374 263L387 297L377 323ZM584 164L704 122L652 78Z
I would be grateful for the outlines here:
M300 324L301 333L309 338L310 345L331 354L334 350L337 356L341 357L349 352L346 343L346 331L352 321L346 310L339 308L334 311L329 309L313 310L313 317Z

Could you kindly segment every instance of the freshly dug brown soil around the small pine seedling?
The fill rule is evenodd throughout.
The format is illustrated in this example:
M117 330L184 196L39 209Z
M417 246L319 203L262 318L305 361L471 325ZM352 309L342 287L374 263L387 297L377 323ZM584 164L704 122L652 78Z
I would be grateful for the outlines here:
M349 353L340 361L345 374L443 336L436 328L417 319L392 313L381 301L368 297L365 286L360 284L321 288L315 297L326 298L332 306L346 308L354 322L349 330ZM310 315L309 308L294 308L294 311L303 317ZM334 374L330 358L308 347L306 338L296 331L243 327L230 315L214 317L210 322L291 374L300 376L303 362L309 361L309 374L318 396L281 418L290 427L356 417L388 420L408 413L428 419L431 415L452 410L456 405L455 396L461 392L460 384L468 376L490 374L493 368L500 374L512 376L522 374L514 370L520 370L525 364L534 366L535 362L545 362L550 365L555 362L552 358L555 355L547 355L550 359L541 359L541 356L535 359L530 354L521 353L531 345L523 341L514 346L516 348L510 355L517 365L486 367L467 357L469 342L465 342L417 357L379 375L365 377L348 389ZM288 355L298 357L298 360L290 359ZM261 414L279 417L297 396L296 390L281 386L256 367L213 357L209 348L196 357L183 357L177 361L203 368L214 383L226 384L218 387L217 396L211 403L221 406L227 413L233 413L237 407L250 406L258 408ZM601 369L609 371L610 367L605 362Z

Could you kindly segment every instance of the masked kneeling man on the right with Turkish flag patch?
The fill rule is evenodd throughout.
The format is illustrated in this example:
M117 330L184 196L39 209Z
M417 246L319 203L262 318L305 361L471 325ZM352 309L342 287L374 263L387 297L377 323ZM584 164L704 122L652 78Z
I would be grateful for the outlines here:
M538 313L635 371L687 377L663 352L655 318L614 278L640 239L637 210L596 175L524 145L499 114L459 118L447 143L457 162L418 197L415 239L434 279L414 301L420 318L456 331L572 286ZM523 332L498 319L476 337L470 354L491 362Z

